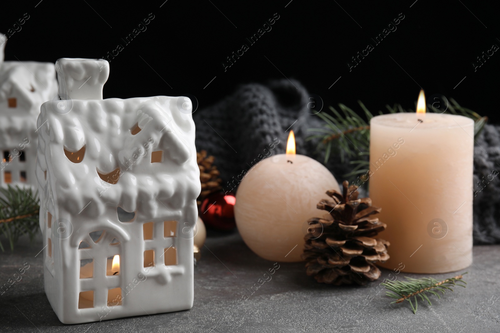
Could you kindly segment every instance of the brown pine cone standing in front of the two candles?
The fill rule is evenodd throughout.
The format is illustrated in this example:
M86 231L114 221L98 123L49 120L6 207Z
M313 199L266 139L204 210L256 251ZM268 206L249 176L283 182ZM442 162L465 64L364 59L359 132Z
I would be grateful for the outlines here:
M322 199L318 209L329 214L312 218L302 258L306 273L317 282L333 285L364 285L380 277L374 265L389 259L389 242L374 238L386 225L373 215L381 208L371 206L370 198L357 199L357 186L343 182L343 193L331 190L331 199Z

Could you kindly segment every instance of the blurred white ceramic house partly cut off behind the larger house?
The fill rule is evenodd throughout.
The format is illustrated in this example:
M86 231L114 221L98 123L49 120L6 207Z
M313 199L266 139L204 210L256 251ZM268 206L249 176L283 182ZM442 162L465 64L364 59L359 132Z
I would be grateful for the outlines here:
M40 105L57 95L55 68L50 62L3 61L6 42L0 33L0 186L36 189L36 118Z

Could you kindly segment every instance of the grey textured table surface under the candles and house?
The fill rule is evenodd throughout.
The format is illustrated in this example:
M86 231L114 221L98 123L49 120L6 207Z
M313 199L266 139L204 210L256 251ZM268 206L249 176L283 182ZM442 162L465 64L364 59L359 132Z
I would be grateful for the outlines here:
M0 295L0 332L500 332L500 246L474 247L467 288L457 287L432 307L420 303L413 315L408 304L389 305L391 299L376 289L381 281L321 285L305 275L303 263L279 264L272 279L251 294L274 263L254 255L237 233L212 235L194 270L191 310L82 325L61 324L50 308L42 258L35 257L41 248L36 242L0 254L1 284L23 263L30 265L22 280ZM381 279L389 273L383 270ZM398 278L403 275L418 277L400 273ZM244 294L248 299L239 301Z

